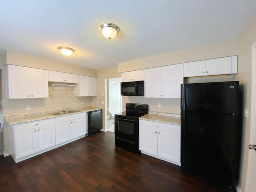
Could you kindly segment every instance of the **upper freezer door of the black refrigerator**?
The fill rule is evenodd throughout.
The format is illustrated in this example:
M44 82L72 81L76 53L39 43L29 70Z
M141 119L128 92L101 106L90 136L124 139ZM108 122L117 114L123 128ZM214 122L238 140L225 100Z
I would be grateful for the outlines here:
M217 114L239 114L239 82L181 85L181 110Z

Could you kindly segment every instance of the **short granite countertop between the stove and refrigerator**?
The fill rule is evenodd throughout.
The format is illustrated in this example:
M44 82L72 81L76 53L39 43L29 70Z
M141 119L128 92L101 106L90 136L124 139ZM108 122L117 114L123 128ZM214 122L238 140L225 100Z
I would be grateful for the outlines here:
M149 111L148 114L139 118L140 120L154 121L180 126L180 114Z

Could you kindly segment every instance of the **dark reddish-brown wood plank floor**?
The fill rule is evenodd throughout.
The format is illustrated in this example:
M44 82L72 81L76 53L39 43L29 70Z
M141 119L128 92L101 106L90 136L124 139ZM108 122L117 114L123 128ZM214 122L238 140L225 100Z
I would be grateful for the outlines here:
M234 192L186 176L180 167L114 146L98 132L28 160L0 156L0 192Z

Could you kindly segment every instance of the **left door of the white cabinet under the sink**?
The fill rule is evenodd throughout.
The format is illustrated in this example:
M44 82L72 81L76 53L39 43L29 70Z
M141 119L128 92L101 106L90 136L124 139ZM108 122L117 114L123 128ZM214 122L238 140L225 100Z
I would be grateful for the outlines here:
M55 124L55 144L60 144L72 139L70 121Z

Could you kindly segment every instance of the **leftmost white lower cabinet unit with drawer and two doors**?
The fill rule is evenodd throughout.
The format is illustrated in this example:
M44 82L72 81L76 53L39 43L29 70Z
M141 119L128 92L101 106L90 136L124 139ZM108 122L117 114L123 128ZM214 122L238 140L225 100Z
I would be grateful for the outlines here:
M55 146L54 118L12 125L14 161Z

